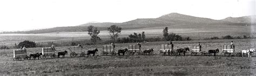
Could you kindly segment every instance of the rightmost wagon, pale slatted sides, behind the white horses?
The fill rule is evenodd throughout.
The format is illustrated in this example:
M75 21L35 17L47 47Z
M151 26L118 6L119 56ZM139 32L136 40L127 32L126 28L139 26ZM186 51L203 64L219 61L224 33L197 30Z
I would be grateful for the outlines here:
M231 45L223 45L223 52L222 52L222 54L224 54L224 56L226 56L226 54L228 54L228 56L229 55L233 55L233 54L237 54L237 53L235 53L235 48L234 48L234 45L233 45L233 47L231 48Z

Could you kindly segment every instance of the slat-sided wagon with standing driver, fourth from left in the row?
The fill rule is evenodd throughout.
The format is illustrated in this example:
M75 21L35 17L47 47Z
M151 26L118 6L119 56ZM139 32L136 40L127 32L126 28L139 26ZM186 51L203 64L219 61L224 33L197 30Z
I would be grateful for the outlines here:
M117 53L114 51L114 46L113 45L103 45L102 46L102 52L100 52L100 55L106 56L106 55L112 55L115 56Z

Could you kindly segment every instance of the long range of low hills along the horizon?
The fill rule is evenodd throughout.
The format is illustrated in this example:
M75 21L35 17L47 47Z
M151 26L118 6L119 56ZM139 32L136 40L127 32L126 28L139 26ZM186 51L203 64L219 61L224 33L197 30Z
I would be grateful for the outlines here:
M254 20L250 20L253 18ZM170 13L165 14L159 18L148 18L148 19L135 19L131 21L126 21L122 23L113 23L113 22L90 22L87 24L82 24L73 27L55 27L49 29L39 29L34 31L23 31L23 32L3 32L3 33L51 33L51 32L80 32L86 31L87 26L95 26L98 27L100 30L106 30L106 27L111 25L117 25L122 27L123 29L138 29L138 28L148 28L148 27L163 27L163 26L170 26L172 28L197 28L197 27L204 27L207 28L208 25L251 25L251 22L255 21L255 16L247 16L247 17L238 17L238 18L225 18L222 20L214 20L209 18L200 18L200 17L193 17L187 16L185 14L179 13ZM207 26L206 26L207 25Z

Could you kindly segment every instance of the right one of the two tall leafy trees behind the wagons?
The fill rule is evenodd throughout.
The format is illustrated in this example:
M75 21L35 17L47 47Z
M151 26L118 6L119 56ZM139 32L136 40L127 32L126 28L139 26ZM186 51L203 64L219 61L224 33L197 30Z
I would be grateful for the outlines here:
M107 31L109 31L110 38L113 39L113 42L115 43L115 39L119 36L121 33L122 28L118 27L116 25L112 25L110 27L107 27Z

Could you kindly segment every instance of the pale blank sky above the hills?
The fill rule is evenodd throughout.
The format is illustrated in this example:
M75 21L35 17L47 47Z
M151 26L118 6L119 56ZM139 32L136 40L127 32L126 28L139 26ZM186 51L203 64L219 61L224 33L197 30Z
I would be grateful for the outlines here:
M255 15L254 0L0 0L0 32L125 22L173 12L224 19Z

